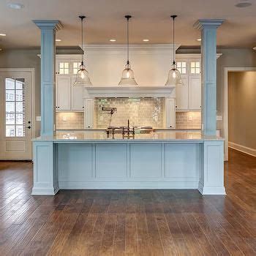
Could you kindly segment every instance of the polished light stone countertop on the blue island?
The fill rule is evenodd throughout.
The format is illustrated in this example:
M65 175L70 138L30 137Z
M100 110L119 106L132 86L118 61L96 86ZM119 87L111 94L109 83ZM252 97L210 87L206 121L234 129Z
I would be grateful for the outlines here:
M56 132L53 137L36 138L34 141L54 141L56 143L138 143L138 142L184 142L184 141L197 141L203 142L204 140L223 140L217 136L203 137L200 131L162 131L162 132L151 132L148 134L135 134L135 137L123 138L121 134L107 136L106 132L102 131L73 131L73 132Z

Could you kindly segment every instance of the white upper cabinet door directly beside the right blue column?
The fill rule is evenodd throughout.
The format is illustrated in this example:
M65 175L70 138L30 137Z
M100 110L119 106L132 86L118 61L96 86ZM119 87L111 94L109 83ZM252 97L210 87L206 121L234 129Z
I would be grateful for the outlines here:
M201 109L201 76L189 78L189 110Z

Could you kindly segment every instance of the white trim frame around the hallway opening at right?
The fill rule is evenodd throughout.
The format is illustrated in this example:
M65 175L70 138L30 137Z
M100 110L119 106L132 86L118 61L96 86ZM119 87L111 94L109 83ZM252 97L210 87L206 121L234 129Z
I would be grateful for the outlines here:
M256 67L225 67L224 68L224 139L225 156L228 161L228 72L256 71Z

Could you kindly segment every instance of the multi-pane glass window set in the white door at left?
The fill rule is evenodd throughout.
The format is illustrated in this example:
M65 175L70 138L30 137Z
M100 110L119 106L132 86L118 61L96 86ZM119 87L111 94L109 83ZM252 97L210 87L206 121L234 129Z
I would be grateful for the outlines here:
M25 80L5 79L5 135L6 137L25 136Z

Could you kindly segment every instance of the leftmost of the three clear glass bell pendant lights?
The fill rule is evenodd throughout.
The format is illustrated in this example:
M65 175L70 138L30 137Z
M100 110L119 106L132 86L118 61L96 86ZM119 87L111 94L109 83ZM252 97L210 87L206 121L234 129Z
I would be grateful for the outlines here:
M81 20L81 47L83 50L83 19L86 18L86 16L81 15L79 18ZM83 53L82 61L75 78L74 86L92 86L91 80L89 78L89 72L86 70L86 67L83 64Z

